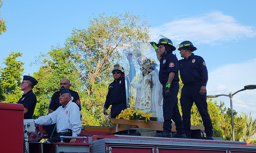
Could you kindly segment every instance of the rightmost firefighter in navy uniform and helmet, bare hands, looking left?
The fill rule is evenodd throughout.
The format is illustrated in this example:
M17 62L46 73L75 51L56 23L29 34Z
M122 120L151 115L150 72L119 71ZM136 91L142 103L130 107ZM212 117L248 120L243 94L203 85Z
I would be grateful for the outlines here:
M212 122L207 110L206 102L206 84L208 81L208 72L204 59L194 55L192 52L197 48L190 41L184 41L180 44L178 50L181 57L179 60L180 77L184 86L181 90L180 104L182 109L182 119L184 123L187 138L191 137L191 108L193 102L202 117L206 139L214 140L212 137Z

